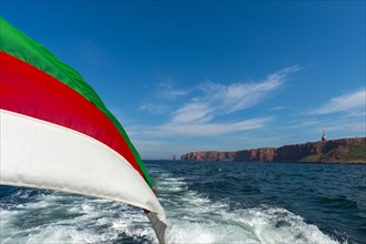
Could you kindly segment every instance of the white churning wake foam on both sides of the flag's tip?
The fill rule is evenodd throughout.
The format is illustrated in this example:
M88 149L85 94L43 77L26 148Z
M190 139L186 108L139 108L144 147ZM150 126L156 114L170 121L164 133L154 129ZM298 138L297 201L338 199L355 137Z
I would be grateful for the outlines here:
M337 243L280 207L231 210L225 200L211 201L189 190L189 181L168 173L156 185L167 212L168 243ZM17 228L21 216L42 210L59 215L52 223ZM0 216L2 243L105 243L120 240L121 234L156 242L141 210L106 200L43 194L21 207L1 210Z

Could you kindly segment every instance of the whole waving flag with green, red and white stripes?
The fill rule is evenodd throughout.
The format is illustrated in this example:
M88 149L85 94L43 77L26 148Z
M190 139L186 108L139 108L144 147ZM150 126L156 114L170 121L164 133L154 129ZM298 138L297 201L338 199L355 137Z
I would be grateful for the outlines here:
M118 120L80 74L0 19L0 183L105 197L166 215Z

